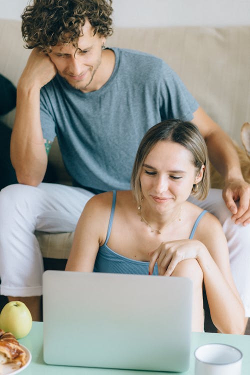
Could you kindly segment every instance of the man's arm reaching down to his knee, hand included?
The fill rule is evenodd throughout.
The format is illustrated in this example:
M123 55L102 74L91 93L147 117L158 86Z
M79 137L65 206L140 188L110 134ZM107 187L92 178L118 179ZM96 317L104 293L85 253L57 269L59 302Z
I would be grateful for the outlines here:
M193 113L192 122L203 135L211 163L224 177L223 199L235 223L250 223L250 185L244 181L238 155L230 137L202 108ZM237 207L235 201L239 200Z

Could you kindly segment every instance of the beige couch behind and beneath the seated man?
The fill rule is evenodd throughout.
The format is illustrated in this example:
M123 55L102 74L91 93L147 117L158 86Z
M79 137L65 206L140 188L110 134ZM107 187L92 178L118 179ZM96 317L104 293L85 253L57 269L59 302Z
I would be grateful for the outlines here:
M250 119L250 25L239 27L120 28L107 46L139 49L163 58L206 112L240 144ZM0 73L15 85L28 58L20 22L0 19ZM3 117L9 126L14 111ZM56 141L49 154L58 182L70 184ZM44 257L66 259L73 233L36 233Z

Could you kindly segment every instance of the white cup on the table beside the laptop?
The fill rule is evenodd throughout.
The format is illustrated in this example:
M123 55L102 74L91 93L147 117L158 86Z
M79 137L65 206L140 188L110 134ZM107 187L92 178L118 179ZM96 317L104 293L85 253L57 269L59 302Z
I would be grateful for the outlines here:
M242 353L236 347L211 343L195 352L195 375L240 375Z

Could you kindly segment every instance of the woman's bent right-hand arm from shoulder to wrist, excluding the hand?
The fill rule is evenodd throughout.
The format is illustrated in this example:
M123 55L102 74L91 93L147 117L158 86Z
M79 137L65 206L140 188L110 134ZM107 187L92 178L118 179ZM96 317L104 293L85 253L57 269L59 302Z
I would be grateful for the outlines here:
M245 311L232 278L226 238L217 218L207 216L209 224L203 222L197 231L204 244L197 261L203 271L211 319L223 333L243 334Z

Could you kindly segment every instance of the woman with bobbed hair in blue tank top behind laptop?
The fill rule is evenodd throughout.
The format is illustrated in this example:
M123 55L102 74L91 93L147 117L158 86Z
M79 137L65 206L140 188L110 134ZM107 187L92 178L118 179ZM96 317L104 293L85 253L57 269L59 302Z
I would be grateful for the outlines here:
M220 223L187 201L190 193L204 199L209 189L207 150L197 127L167 120L150 128L137 150L131 186L87 202L66 270L189 277L195 331L203 330L204 282L217 329L243 333L244 308Z

